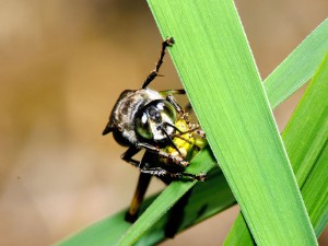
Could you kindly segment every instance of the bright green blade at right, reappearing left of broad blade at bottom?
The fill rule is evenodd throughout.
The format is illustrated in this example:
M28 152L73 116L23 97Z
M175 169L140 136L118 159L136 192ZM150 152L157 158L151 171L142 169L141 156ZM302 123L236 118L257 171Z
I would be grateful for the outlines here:
M328 221L328 56L282 133L302 196L317 236ZM224 245L254 245L238 215Z

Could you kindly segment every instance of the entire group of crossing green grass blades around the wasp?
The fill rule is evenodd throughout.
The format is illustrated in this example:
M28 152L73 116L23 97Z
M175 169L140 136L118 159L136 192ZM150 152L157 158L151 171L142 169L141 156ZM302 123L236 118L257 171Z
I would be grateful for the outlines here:
M176 181L144 202L144 212L132 226L121 211L58 245L153 245L164 239L168 211L188 190L177 231L234 204L233 191L247 224L239 215L226 244L253 244L254 237L258 245L316 245L315 234L328 218L323 172L328 163L327 62L283 132L284 144L271 107L313 77L328 50L328 21L268 77L263 87L232 1L149 0L149 4L162 36L176 39L169 52L224 175L206 148L188 169L212 168L206 183Z

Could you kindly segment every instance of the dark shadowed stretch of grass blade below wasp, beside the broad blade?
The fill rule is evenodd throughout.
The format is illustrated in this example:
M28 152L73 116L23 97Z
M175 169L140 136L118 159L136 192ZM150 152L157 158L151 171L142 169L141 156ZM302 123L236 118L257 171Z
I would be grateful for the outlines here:
M166 239L165 232L172 226L180 232L235 204L235 198L220 168L212 168L206 183L197 183L183 210L172 210L153 224L136 246L155 245ZM178 218L178 220L176 220ZM181 219L181 220L180 220Z

